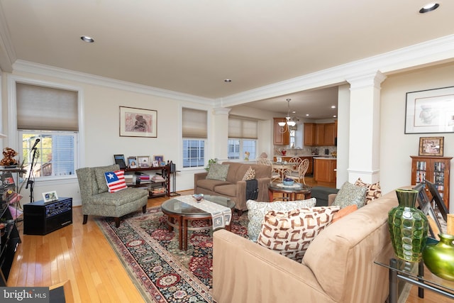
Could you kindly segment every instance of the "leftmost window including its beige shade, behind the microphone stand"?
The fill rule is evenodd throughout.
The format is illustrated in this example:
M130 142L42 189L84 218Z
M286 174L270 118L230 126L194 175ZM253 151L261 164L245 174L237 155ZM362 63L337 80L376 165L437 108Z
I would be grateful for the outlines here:
M16 83L19 153L27 175L43 179L75 175L78 108L77 92Z

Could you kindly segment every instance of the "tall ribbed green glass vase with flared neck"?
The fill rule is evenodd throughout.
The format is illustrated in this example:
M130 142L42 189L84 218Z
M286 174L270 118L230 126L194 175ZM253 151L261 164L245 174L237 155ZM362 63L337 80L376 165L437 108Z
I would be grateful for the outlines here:
M415 207L418 193L415 189L396 189L399 206L388 212L394 253L397 258L409 262L421 260L428 233L427 217Z

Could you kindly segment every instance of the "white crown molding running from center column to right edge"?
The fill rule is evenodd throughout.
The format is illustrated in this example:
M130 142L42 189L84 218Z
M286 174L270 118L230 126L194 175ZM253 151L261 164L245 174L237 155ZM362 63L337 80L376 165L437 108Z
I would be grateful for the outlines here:
M399 50L258 87L257 89L250 89L231 96L218 98L216 101L220 102L224 107L236 106L250 101L278 97L307 89L344 84L347 79L374 75L377 72L392 74L393 72L411 68L416 69L445 60L454 60L454 35L447 35Z

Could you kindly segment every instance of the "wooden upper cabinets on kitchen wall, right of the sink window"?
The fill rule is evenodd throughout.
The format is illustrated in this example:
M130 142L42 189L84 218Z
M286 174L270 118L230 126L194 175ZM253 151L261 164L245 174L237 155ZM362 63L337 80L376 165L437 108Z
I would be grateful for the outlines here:
M304 123L304 145L336 145L337 123Z

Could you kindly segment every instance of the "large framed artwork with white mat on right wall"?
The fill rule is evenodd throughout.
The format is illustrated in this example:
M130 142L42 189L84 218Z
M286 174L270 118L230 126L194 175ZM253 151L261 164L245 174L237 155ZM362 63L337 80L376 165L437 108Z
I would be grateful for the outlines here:
M454 87L407 92L405 133L454 133Z

